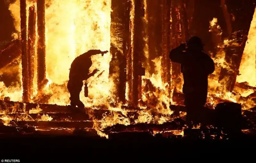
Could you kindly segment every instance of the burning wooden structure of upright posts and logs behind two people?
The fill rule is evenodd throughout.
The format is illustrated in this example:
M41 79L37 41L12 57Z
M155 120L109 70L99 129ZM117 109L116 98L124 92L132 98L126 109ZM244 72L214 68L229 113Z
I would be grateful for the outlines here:
M204 3L205 5L203 5ZM50 78L46 78L48 72L46 57L51 55L47 54L46 47L51 44L47 44L46 35L50 33L48 31L51 29L46 27L47 16L45 14L52 4L46 4L45 0L37 0L32 4L26 0L20 0L21 41L12 41L0 52L0 57L3 58L0 68L21 54L23 102L12 102L8 98L1 101L2 119L5 116L15 119L10 124L17 126L48 126L49 128L93 128L95 123L107 121L108 115L111 115L111 118L119 116L116 118L118 122L125 124L160 123L173 120L185 110L180 109L182 106L176 109L177 106L172 105L182 104L182 74L180 65L170 62L169 51L180 43L186 42L192 35L202 36L203 41L208 45L206 50L212 52L212 57L218 61L216 62L217 72L212 74L210 79L220 85L216 84L218 85L217 89L210 83L209 90L216 88L220 91L218 93L224 94L225 97L217 96L218 93L210 91L209 99L212 101L208 101L208 104L212 106L212 103L226 101L239 103L239 100L243 102L248 100L250 105L243 107L253 107L256 103L255 93L243 97L239 91L235 91L235 87L239 90L250 89L252 92L256 90L252 85L236 82L243 49L255 11L255 2L244 3L241 1L237 3L239 7L231 5L233 2L228 0L204 3L201 0L111 0L111 2L102 2L103 7L107 6L112 10L109 13L110 23L107 24L110 28L109 56L111 61L108 63L108 70L105 70L109 71L107 78L113 82L111 90L109 90L111 93L105 99L111 98L111 100L102 100L105 103L100 103L97 106L93 103L93 108L100 109L88 107L88 115L81 116L72 113L70 111L72 109L69 109L68 106L53 105L54 102L50 102L54 93L61 92L56 91L58 90L56 87L64 90L62 93L67 93L67 90L63 88L66 87L65 82L50 83L48 80ZM110 4L111 6L108 6ZM219 6L219 4L221 9L210 10L212 6ZM249 8L247 8L248 6ZM237 8L241 8L241 10L236 10ZM205 15L206 10L209 11L209 16ZM210 23L214 18L218 19L220 25L216 22L213 25ZM246 19L246 23L239 25L242 18ZM73 19L75 18L72 17ZM94 31L100 29L97 21L93 23L96 23L93 25ZM72 25L75 26L75 24ZM78 26L75 28L70 26L70 29L76 33L79 31ZM220 29L223 35L220 34ZM78 44L77 41L75 42ZM93 47L95 46L91 46L91 48ZM81 49L86 48L82 47L76 51ZM220 51L223 52L222 55L218 54ZM6 58L7 54L10 57ZM219 63L220 58L225 60L225 66ZM105 58L105 60L107 59ZM97 62L100 60L96 60ZM159 76L156 71L159 71ZM34 82L35 76L36 83ZM106 83L106 81L104 82ZM220 90L219 87L223 85L225 85L225 89ZM56 92L49 95L45 93L47 92L45 89L52 89ZM34 95L35 90L37 91L36 95ZM233 93L232 97L226 97L229 95L227 93ZM44 96L41 96L42 94ZM33 96L44 98L42 100L44 102L41 102L44 104L37 104L36 100L33 100ZM102 99L102 96L99 96L99 99ZM65 98L67 99L67 97ZM109 110L109 107L118 107L119 104L122 104L122 107L118 108L119 111ZM29 113L30 110L36 108L40 108L41 111ZM28 115L28 117L19 120L23 115ZM142 120L145 117L147 117L146 120ZM39 119L41 121L38 121ZM47 122L47 120L50 121ZM112 123L109 122L109 124ZM102 126L99 128L102 129ZM177 126L174 128L176 129Z

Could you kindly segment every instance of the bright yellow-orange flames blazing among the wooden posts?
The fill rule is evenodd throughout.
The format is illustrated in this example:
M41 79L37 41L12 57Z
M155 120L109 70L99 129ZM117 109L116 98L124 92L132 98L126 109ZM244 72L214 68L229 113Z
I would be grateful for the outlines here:
M144 9L147 11L146 0L144 2ZM32 6L34 2L27 2L27 11L29 6ZM135 19L135 0L131 0L130 9L130 30L131 30L131 46L133 46L133 30L134 30L134 19ZM36 6L36 5L35 5ZM9 10L12 12L14 18L14 25L17 33L13 34L13 38L16 39L20 36L20 0L16 0L9 6ZM72 61L79 55L90 49L100 49L102 51L110 51L110 37L111 37L111 0L62 0L62 1L47 1L45 8L45 44L46 44L46 78L48 83L45 85L42 92L37 91L36 86L36 65L35 65L35 77L34 77L34 98L42 98L49 96L48 104L57 105L68 105L69 104L69 93L67 91L67 81L69 75L69 68ZM178 15L180 18L180 14ZM144 40L144 56L149 61L149 48L148 48L148 19L149 16L145 12L143 18L143 27L145 33L143 33ZM170 18L172 21L172 18ZM240 66L240 75L237 78L237 82L246 81L251 86L256 86L256 66L255 66L255 53L256 53L256 12L254 14L250 32L248 35L248 43L244 49L244 56ZM214 18L209 22L209 31L213 32L216 38L221 40L221 28L218 25L218 20ZM181 25L180 25L181 30ZM37 33L38 37L38 33ZM118 39L118 38L115 38ZM241 97L247 97L253 90L242 90L235 88L233 92L228 92L228 89L222 83L225 83L226 79L219 81L220 71L222 68L231 70L231 65L225 61L225 46L233 44L234 40L221 40L218 42L218 52L213 58L216 63L215 72L209 77L209 93L208 93L208 104L214 108L214 106L220 101L232 101L239 102L243 105L243 109L251 108L255 105L252 100L243 100ZM36 45L37 46L37 45ZM118 45L119 46L119 45ZM118 47L120 48L120 47ZM123 51L123 50L122 50ZM92 56L92 66L90 72L94 69L99 69L100 72L96 74L96 77L92 77L88 80L89 97L84 97L83 91L80 93L80 99L85 104L85 107L91 108L87 110L90 114L92 121L94 122L94 128L98 131L101 136L106 136L101 131L114 124L129 125L132 123L158 123L171 121L172 111L169 106L175 104L172 99L172 93L169 94L168 87L169 83L164 83L161 79L161 60L162 56L153 60L155 65L155 72L149 73L148 65L143 65L146 68L145 76L142 77L142 99L139 103L139 108L136 108L138 114L137 119L134 122L131 121L133 117L129 117L129 112L134 110L125 110L122 107L128 107L128 104L117 104L116 106L111 105L115 103L112 93L114 78L109 78L109 63L112 60L110 53L104 56L95 55ZM1 99L4 97L10 97L12 101L22 101L22 79L21 79L21 62L19 60L19 67L15 70L19 71L20 83L13 83L11 86L6 87L3 82L0 82ZM131 63L133 64L133 63ZM133 65L131 65L133 67ZM8 69L3 69L2 72L8 73ZM11 74L11 72L9 72ZM128 72L127 72L128 73ZM182 74L180 74L182 78ZM178 85L179 91L182 88ZM128 81L126 82L126 100L128 100L129 88ZM181 87L181 88L180 88ZM82 88L84 90L84 87ZM36 102L31 101L31 102ZM104 113L103 118L98 120L93 115L93 110L106 109L111 111L110 114ZM43 110L37 106L36 108L30 109L28 114L23 114L18 117L18 120L29 120L29 121L52 121L53 118L47 114L43 114ZM158 115L155 116L154 114ZM11 117L5 112L1 113L0 119L4 121L5 125L8 125L11 120L17 119L17 117ZM9 113L10 114L10 113ZM35 119L31 118L29 114L38 114ZM180 117L185 116L186 113L180 112ZM133 115L134 116L134 115ZM70 121L65 119L65 121ZM200 127L200 126L199 126ZM194 128L199 128L194 127ZM39 130L39 129L38 129ZM40 129L41 130L41 129ZM71 130L71 129L70 129ZM73 130L73 129L72 129ZM172 131L174 132L174 131ZM176 133L177 132L177 133ZM184 135L183 131L175 131L176 135Z

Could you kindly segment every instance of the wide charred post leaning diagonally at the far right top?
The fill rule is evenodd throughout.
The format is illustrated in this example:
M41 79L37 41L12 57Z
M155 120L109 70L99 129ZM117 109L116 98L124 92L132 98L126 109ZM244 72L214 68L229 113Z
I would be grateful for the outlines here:
M244 47L255 11L255 1L239 1L234 4L231 0L221 0L221 6L228 24L227 33L231 34L225 48L225 60L229 66L222 68L219 82L226 85L227 91L232 92L239 74ZM235 19L230 21L232 17Z

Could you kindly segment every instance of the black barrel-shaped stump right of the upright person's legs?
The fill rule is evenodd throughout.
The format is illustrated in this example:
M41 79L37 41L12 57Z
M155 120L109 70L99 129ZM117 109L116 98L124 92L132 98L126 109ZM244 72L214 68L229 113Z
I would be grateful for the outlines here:
M227 134L238 134L242 130L242 106L233 102L224 102L215 107L216 127Z

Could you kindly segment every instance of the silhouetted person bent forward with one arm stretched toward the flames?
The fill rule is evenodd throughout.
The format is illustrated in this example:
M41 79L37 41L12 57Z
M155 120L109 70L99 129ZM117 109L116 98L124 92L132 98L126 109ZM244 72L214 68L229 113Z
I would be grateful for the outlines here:
M70 93L70 105L74 107L84 108L84 104L80 101L80 92L83 87L83 81L92 77L99 70L95 69L89 74L89 69L92 66L91 56L96 54L101 54L102 56L108 51L100 50L89 50L86 53L77 56L72 62L69 71L68 80L68 91Z

